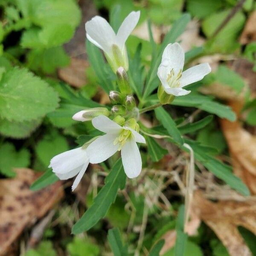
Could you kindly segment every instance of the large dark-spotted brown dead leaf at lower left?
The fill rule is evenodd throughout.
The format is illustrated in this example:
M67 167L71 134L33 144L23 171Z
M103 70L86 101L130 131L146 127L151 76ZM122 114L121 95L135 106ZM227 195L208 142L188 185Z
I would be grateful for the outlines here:
M15 178L0 180L0 255L9 255L24 228L44 216L63 196L61 182L32 192L29 186L40 174L26 168L15 171Z

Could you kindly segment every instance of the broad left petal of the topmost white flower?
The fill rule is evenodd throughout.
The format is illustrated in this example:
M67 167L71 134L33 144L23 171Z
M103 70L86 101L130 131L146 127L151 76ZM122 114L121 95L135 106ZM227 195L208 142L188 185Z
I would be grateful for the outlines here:
M116 34L102 17L95 16L85 23L85 30L88 40L105 52L111 52L111 45L116 41Z

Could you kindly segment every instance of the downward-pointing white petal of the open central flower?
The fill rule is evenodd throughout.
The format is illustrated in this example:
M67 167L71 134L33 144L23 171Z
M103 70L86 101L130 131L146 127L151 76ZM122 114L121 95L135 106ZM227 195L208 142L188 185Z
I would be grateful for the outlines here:
M122 164L128 178L137 177L142 168L139 148L135 140L127 140L121 149Z

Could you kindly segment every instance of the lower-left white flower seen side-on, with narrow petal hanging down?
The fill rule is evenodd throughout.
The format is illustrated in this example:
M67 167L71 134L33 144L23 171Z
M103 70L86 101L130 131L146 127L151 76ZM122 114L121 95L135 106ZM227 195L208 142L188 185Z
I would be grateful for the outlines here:
M77 175L72 186L72 191L74 191L83 177L88 164L89 158L87 152L80 147L53 157L50 161L49 168L52 167L52 171L55 172L55 175L60 180L67 180Z

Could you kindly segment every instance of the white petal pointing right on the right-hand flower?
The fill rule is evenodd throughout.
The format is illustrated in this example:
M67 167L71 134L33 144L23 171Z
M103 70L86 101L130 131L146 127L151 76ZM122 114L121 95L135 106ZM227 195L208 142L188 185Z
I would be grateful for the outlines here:
M188 84L200 81L211 72L211 67L208 63L202 63L194 67L190 67L182 73L180 78L180 86L184 87Z

